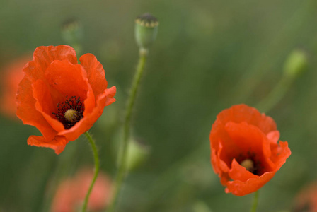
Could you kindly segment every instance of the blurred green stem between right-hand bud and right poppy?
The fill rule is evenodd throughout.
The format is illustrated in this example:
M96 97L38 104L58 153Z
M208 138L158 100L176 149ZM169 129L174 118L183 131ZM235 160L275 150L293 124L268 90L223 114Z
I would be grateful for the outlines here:
M258 108L261 112L271 110L275 105L277 105L277 102L283 98L285 93L287 93L287 90L289 90L293 81L294 78L284 75L275 88L273 88L267 97L260 101L255 108Z

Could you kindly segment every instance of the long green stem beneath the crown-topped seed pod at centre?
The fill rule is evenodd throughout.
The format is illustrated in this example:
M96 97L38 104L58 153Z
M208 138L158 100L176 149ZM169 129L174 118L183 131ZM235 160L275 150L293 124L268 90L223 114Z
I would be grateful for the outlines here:
M117 199L120 194L120 189L122 187L122 182L125 179L125 175L127 174L127 150L128 150L128 141L129 141L129 133L130 133L130 121L131 121L131 114L134 105L134 100L137 96L137 90L139 88L140 79L142 77L142 73L144 70L144 65L146 62L147 57L147 50L140 49L140 57L139 57L139 64L137 65L137 72L134 75L132 88L129 94L129 100L127 102L127 108L125 112L125 128L124 128L124 136L123 136L123 143L120 148L119 154L119 170L117 171L117 176L115 178L115 187L113 192L113 199L109 206L108 211L112 212L115 211L115 206L117 204Z

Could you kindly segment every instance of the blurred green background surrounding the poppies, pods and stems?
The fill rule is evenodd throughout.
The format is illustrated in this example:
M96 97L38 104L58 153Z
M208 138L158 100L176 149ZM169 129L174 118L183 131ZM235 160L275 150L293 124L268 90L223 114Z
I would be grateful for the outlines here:
M225 194L214 174L209 132L221 110L263 100L293 49L307 53L308 69L267 112L292 155L260 189L258 211L290 210L299 189L317 179L316 0L0 2L1 67L38 46L65 44L62 23L81 23L83 54L95 54L108 85L117 86L117 102L91 129L101 169L112 177L138 59L134 18L150 12L159 19L132 117L134 138L150 154L129 173L118 211L249 211L253 195ZM0 126L0 211L47 211L54 184L93 165L83 136L55 155L27 145L39 135L35 127L5 116Z

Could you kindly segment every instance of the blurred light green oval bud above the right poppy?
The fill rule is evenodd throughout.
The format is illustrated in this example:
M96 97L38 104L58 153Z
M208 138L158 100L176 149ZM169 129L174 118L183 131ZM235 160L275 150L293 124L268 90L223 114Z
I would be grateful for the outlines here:
M307 66L307 56L302 50L296 49L287 58L284 64L284 74L291 78L298 77Z

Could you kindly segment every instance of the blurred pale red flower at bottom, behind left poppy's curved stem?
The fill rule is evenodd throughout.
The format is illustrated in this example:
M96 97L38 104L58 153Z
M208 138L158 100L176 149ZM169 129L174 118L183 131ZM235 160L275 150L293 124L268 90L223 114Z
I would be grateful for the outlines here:
M81 208L92 179L93 172L89 169L83 169L74 177L65 179L57 188L52 201L52 212L75 212L76 209ZM89 197L88 210L103 210L108 206L110 195L110 179L105 173L99 172Z

